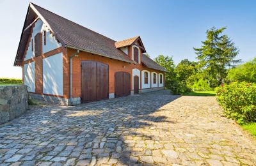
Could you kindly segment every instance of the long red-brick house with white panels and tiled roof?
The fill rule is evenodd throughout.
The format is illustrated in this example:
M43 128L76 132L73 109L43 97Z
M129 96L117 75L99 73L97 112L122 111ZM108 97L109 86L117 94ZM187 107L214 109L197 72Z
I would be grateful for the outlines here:
M164 89L140 36L114 41L29 3L14 66L33 98L74 105Z

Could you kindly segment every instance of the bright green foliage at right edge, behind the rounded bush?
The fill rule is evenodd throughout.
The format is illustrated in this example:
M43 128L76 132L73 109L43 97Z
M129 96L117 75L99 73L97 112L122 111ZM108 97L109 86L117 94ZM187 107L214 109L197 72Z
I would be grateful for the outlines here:
M236 66L236 68L230 68L227 80L230 82L256 82L256 57L252 61Z

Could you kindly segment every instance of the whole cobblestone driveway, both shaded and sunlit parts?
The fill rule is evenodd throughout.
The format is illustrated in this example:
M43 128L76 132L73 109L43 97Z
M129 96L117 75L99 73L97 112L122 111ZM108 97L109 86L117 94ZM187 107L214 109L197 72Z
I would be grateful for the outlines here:
M214 97L167 91L47 107L0 126L0 165L256 165Z

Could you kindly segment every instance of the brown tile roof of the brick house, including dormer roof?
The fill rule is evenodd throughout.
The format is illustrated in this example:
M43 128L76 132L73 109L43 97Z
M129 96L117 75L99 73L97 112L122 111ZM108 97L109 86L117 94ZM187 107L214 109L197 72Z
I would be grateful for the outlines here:
M136 63L118 48L131 45L135 40L137 40L137 38L140 38L140 36L116 42L115 40L111 40L102 34L80 26L75 22L65 19L60 15L56 15L55 13L45 10L44 8L41 8L33 3L29 4L29 10L26 15L26 20L24 22L22 31L24 31L26 26L31 24L33 17L36 15L43 20L43 22L56 36L56 39L65 47L91 52L93 54L118 59L128 63ZM15 66L19 66L20 61L22 61L22 56L26 47L25 43L29 36L28 31L29 29L22 33L22 36L20 37L19 48L15 58ZM163 67L145 55L142 57L142 63L147 65L148 68L164 71Z

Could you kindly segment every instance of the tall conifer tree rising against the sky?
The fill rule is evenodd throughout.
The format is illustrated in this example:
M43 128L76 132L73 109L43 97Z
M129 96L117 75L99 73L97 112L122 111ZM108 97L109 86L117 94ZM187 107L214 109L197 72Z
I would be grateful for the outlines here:
M211 87L223 83L227 68L241 61L235 59L239 50L234 42L226 34L221 35L225 29L212 27L206 31L207 39L202 41L202 47L193 48L199 60L198 68L203 71Z

